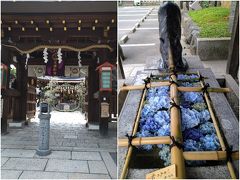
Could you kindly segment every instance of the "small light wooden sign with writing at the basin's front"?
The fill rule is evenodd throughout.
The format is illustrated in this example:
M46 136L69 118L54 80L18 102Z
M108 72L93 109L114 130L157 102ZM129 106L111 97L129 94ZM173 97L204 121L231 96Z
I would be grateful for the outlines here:
M146 179L174 179L176 178L176 165L162 168L146 175Z

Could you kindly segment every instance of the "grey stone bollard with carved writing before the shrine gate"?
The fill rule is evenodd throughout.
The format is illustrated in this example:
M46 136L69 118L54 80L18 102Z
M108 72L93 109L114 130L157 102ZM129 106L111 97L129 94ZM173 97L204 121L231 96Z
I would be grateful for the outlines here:
M47 108L47 109L46 109ZM38 137L38 149L36 151L39 156L47 156L51 153L49 149L49 136L50 136L50 118L48 104L42 103L40 106L40 119L39 125L39 137Z

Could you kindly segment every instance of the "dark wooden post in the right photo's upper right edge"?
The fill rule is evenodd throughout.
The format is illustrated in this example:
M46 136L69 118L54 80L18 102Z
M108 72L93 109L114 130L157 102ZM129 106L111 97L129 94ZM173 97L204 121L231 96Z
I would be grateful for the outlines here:
M226 72L234 79L239 73L239 2L236 2L236 10L233 21L232 36L229 44L228 62Z

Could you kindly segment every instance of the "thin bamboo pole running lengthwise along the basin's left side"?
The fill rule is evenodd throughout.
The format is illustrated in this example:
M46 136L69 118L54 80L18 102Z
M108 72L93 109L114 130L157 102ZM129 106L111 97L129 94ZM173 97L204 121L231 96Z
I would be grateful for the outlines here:
M138 113L137 113L137 116L136 116L135 124L134 124L134 127L133 127L132 136L136 135L136 133L137 133L139 119L140 119L140 115L141 115L141 110L142 110L142 107L143 107L143 104L144 104L144 99L145 99L146 93L147 93L147 90L144 89L142 99L141 99L141 102L140 102L140 105L139 105L139 108L138 108ZM129 167L130 159L131 159L131 156L132 156L132 151L133 151L133 147L129 146L120 179L126 179L126 177L127 177L128 167Z

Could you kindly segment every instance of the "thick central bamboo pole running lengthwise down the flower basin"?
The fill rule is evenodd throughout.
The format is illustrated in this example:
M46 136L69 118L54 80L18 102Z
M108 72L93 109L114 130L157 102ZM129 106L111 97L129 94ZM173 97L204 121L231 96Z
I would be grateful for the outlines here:
M172 52L169 49L169 67L170 70L174 70L174 63L172 59ZM177 82L177 77L172 75L172 80ZM174 100L174 102L179 105L178 100L178 88L176 84L172 84L170 86L170 97ZM182 140L182 132L181 132L181 120L180 120L180 111L177 107L173 106L171 108L171 136L180 143L183 142ZM171 148L171 164L176 165L176 178L184 179L185 178L185 164L183 158L183 150L178 148L177 146L173 146Z

